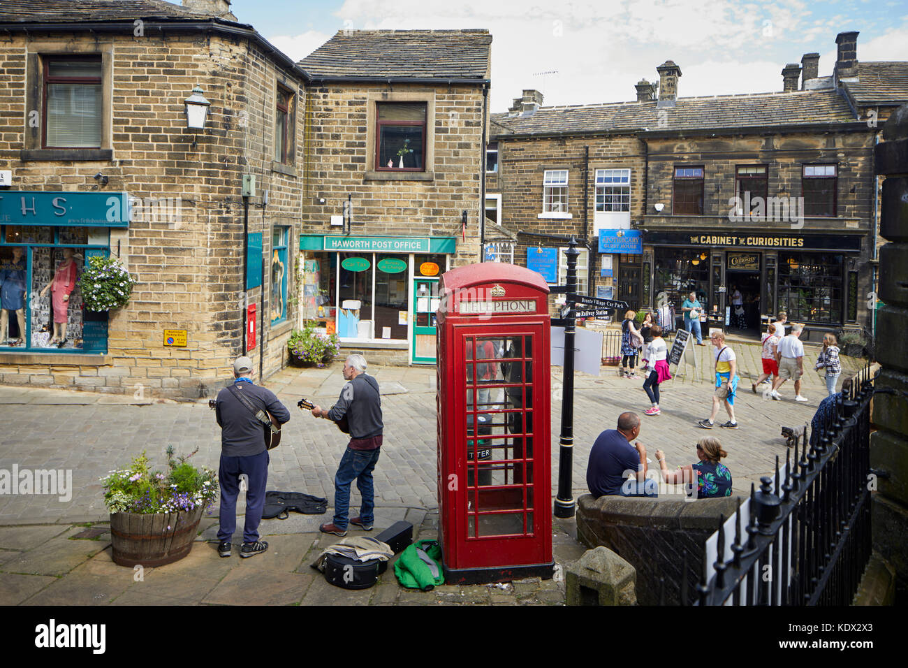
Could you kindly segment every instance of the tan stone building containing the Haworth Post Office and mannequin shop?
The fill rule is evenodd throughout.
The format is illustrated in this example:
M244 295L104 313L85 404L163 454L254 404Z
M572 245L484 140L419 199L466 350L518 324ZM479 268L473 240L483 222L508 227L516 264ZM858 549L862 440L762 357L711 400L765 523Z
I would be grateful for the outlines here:
M407 359L424 341L412 331L425 319L415 309L431 305L432 282L414 287L413 266L441 272L478 254L488 33L453 31L479 47L438 79L410 71L377 83L377 73L349 73L369 72L372 56L366 65L355 56L364 43L387 44L382 35L331 56L343 41L335 37L313 55L310 75L239 23L226 0L18 0L0 6L0 32L0 265L9 270L0 277L10 294L25 292L5 295L0 382L199 398L231 377L239 354L261 377L280 369L304 309L324 315L327 304L337 329L348 299L360 301L360 322L378 327L360 336L354 325L350 338ZM425 67L444 39L410 33L396 43ZM196 99L207 108L202 129L188 127L186 102ZM425 118L394 122L395 108L417 107ZM421 132L420 165L400 167L415 152L382 145L379 126L408 145ZM396 165L376 167L366 148L376 141ZM351 204L347 224L333 227L341 201ZM341 273L341 289L327 292L341 302L316 304L318 274L308 270L321 266L330 237L339 250L396 253L379 260L402 254L406 270L386 262L378 271L402 274L403 287L362 267L354 292ZM67 248L76 274L93 255L118 258L137 279L129 304L86 311L76 284L54 307L44 288L68 276ZM337 281L340 269L326 266ZM367 275L377 284L368 296L355 292ZM385 297L374 316L372 294ZM388 307L393 314L379 313ZM65 334L54 314L67 320Z

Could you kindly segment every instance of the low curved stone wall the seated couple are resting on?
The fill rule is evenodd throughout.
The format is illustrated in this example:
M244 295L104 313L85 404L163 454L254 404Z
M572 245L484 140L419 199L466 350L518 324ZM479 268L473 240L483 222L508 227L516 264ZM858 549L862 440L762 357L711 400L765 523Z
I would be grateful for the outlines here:
M660 578L665 578L666 604L678 605L683 577L693 600L706 539L716 532L719 515L724 522L737 503L736 497L686 502L584 494L577 499L577 540L589 547L604 545L634 566L641 605L659 603ZM685 558L687 572L682 573Z

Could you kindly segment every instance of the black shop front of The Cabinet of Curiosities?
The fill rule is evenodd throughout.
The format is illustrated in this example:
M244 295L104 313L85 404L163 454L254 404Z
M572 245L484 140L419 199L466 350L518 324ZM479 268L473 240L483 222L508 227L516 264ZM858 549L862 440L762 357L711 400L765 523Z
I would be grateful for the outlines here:
M858 234L646 232L654 303L673 306L682 324L690 293L706 326L758 336L779 311L792 322L832 331L858 317Z

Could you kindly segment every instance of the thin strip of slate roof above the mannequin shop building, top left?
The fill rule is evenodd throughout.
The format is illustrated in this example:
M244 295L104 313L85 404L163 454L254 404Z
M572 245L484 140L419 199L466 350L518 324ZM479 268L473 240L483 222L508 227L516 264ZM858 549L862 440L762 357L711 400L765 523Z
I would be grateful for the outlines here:
M3 0L0 23L84 23L142 19L210 20L163 0ZM228 22L232 23L232 22Z

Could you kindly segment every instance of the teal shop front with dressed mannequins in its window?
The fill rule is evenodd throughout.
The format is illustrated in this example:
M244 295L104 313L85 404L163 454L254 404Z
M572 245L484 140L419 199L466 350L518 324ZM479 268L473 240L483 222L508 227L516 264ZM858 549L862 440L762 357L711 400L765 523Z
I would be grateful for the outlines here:
M126 193L0 191L0 354L106 354L107 314L85 311L79 277L129 217Z

